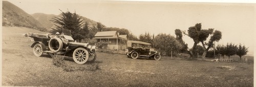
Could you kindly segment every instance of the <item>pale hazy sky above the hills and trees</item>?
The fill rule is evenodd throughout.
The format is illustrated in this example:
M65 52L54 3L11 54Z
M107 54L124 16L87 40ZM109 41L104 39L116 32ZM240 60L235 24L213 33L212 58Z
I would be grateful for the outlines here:
M34 1L8 0L29 14L45 13L58 15L70 11L102 23L106 27L130 30L139 36L145 32L166 33L175 36L175 29L187 31L189 27L202 23L202 29L214 28L222 32L222 39L216 45L232 42L249 47L254 51L254 29L256 4L198 3L195 2L135 2L135 1ZM206 1L207 2L207 1ZM217 1L218 2L218 1ZM193 39L183 36L188 47Z

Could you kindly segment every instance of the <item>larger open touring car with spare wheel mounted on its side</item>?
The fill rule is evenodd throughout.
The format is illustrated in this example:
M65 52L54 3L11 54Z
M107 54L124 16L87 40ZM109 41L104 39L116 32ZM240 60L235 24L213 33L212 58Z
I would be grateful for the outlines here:
M60 35L42 35L31 34L29 37L34 39L31 45L35 56L41 56L43 53L73 57L78 64L93 62L96 59L96 46L86 43L75 42L74 39L61 33Z

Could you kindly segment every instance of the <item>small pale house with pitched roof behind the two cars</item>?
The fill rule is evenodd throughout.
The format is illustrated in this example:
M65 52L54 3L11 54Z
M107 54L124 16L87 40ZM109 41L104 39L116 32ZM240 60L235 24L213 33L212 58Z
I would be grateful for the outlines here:
M123 50L126 48L127 35L119 35L117 31L97 32L94 36L97 41L107 41L108 49Z

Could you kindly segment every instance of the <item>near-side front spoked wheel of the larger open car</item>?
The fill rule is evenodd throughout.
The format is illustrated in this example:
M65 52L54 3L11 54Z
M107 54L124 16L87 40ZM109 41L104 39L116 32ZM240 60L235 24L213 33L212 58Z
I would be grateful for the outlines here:
M84 64L87 62L89 58L89 53L86 49L84 48L77 48L74 52L73 52L73 59L76 63L78 64Z

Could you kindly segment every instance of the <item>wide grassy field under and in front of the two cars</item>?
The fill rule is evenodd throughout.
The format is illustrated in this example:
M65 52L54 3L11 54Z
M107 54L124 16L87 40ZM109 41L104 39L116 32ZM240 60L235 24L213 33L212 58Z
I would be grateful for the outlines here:
M72 68L94 64L99 70L67 72L53 65L51 56L33 55L33 42L5 37L19 36L3 29L3 86L253 86L253 62L213 62L162 57L131 59L122 54L97 53L93 63L65 62ZM249 58L253 60L252 58Z

